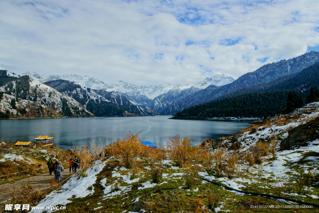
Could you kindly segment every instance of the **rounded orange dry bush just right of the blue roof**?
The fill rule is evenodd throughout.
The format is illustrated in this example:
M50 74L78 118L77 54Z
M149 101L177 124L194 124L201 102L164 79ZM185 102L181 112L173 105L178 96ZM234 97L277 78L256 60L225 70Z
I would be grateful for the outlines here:
M199 148L191 145L191 139L187 137L181 138L180 135L176 135L167 141L167 146L170 150L170 159L178 167L184 167L192 160L195 160L199 155Z

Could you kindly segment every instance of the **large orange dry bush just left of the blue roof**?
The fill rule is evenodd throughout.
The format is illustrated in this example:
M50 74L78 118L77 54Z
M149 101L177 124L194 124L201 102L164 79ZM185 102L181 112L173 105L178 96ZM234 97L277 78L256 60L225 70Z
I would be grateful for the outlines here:
M110 155L121 158L127 169L134 167L136 157L140 156L142 150L145 149L145 146L141 143L142 140L138 137L139 133L129 133L126 138L123 138L122 140L117 139L107 146Z

